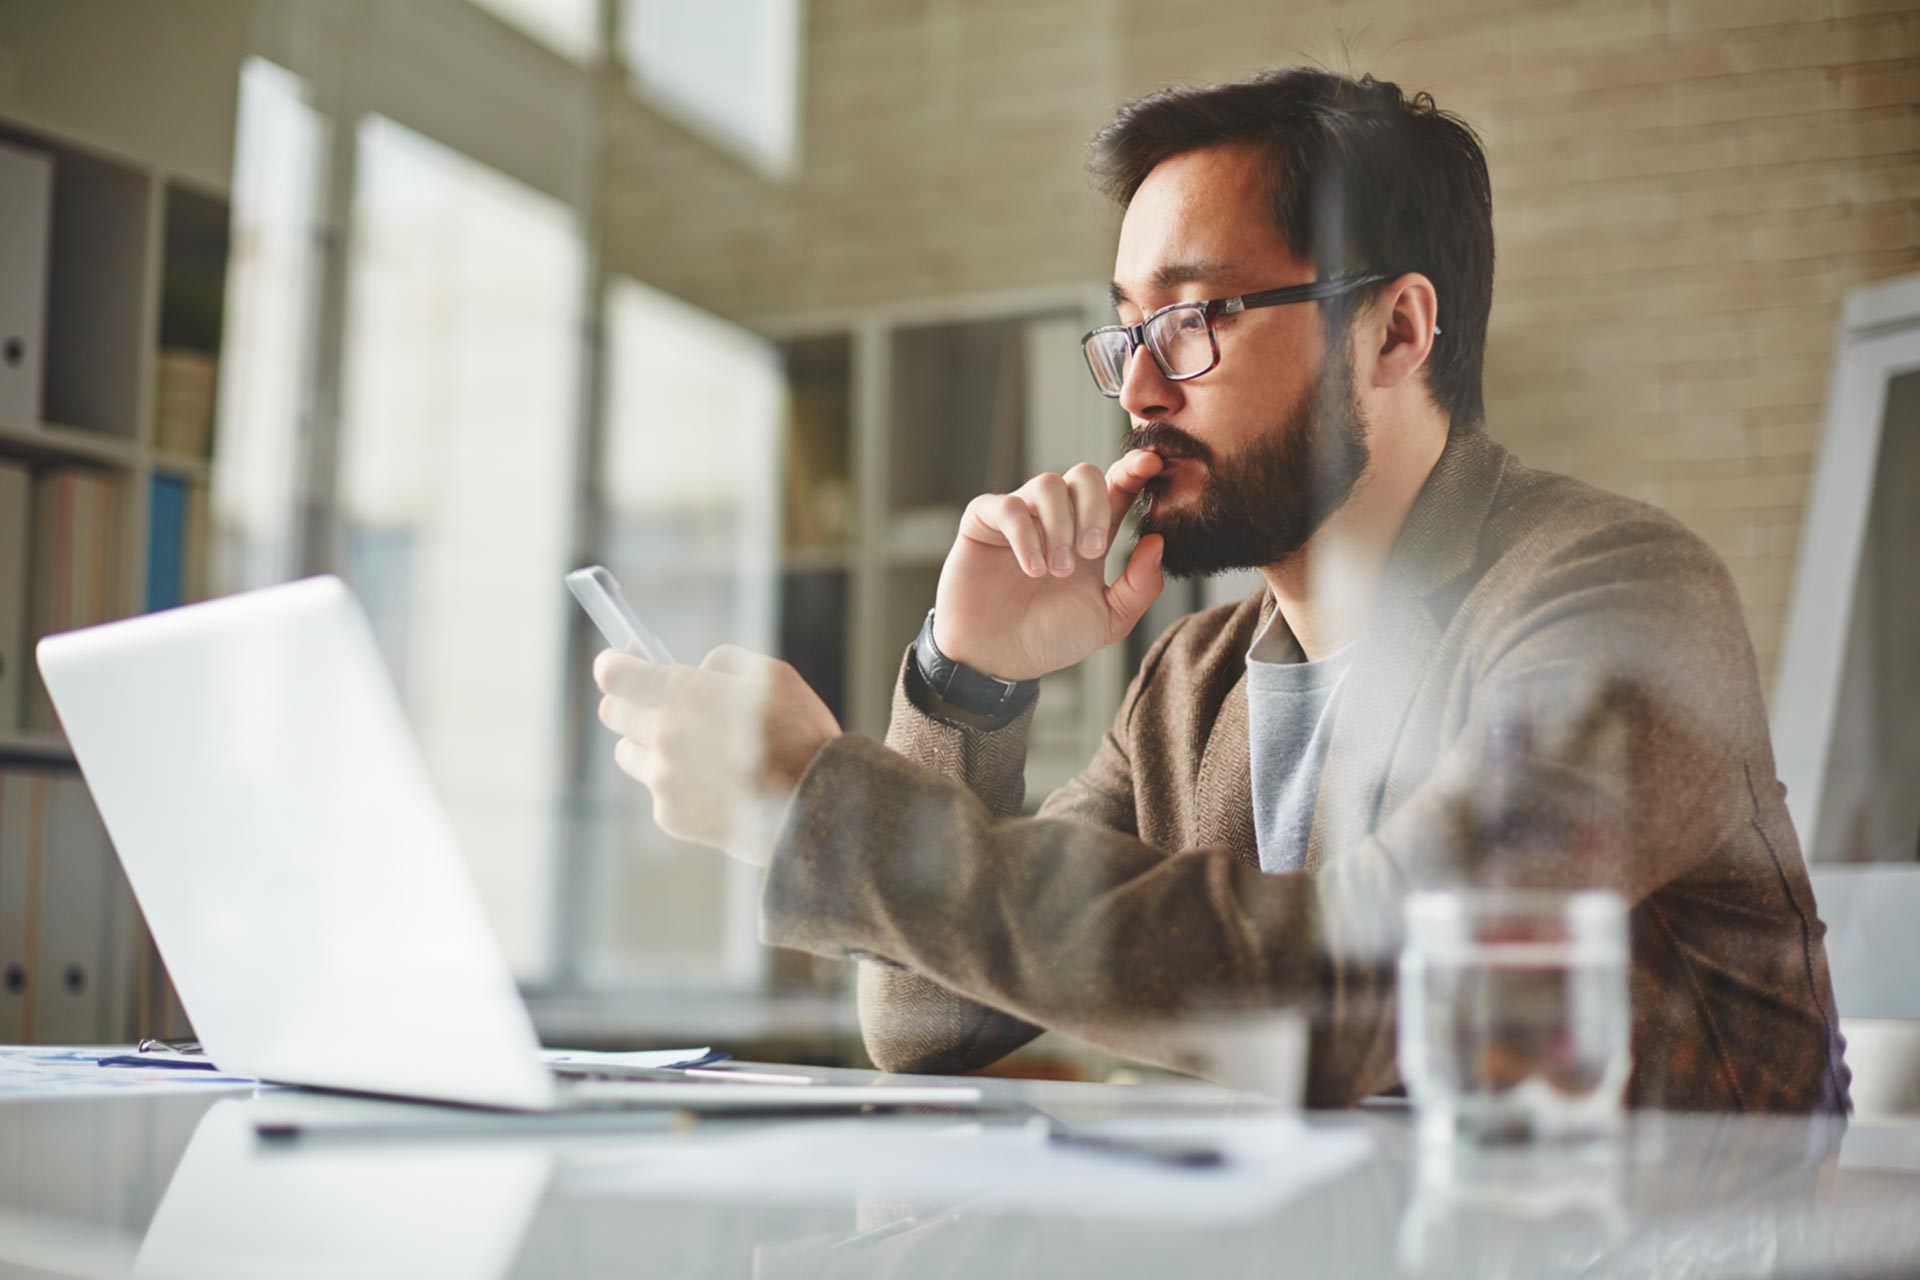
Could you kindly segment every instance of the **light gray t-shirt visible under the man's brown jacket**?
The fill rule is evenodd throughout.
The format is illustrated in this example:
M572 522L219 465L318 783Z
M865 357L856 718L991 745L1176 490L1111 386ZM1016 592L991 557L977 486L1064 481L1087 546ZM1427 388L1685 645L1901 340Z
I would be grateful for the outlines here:
M1290 635L1273 633L1273 618L1246 651L1254 835L1261 871L1298 871L1306 865L1321 766L1354 647L1306 662Z

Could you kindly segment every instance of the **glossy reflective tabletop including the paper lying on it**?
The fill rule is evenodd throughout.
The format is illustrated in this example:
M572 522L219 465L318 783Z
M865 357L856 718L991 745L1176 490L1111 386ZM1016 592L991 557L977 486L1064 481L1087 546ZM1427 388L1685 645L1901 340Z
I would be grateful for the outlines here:
M985 1088L981 1113L574 1128L288 1090L15 1096L0 1102L0 1270L1158 1280L1920 1267L1920 1126L1640 1113L1617 1144L1434 1155L1398 1107L1294 1115L1198 1084L970 1082ZM290 1098L338 1128L261 1138ZM1031 1136L1035 1115L1075 1132L1185 1134L1227 1159L1058 1150Z

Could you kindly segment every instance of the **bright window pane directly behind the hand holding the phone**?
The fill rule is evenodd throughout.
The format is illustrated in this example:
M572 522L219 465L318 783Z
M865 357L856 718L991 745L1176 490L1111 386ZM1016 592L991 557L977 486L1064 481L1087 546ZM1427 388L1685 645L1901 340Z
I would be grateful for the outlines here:
M601 560L680 662L722 643L776 649L783 418L770 344L634 280L609 282ZM753 984L764 963L758 873L655 827L645 789L612 764L612 737L591 712L582 722L588 983Z

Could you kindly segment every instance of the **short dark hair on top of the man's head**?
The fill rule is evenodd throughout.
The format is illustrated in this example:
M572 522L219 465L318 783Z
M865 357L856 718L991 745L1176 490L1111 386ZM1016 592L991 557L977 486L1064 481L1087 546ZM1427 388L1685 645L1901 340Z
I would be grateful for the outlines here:
M1444 332L1427 357L1427 388L1452 430L1480 426L1494 194L1473 129L1430 94L1407 98L1371 75L1279 67L1129 102L1094 134L1087 169L1125 205L1160 161L1227 142L1267 150L1273 221L1321 280L1356 271L1417 271L1432 280ZM1323 305L1340 332L1350 307Z

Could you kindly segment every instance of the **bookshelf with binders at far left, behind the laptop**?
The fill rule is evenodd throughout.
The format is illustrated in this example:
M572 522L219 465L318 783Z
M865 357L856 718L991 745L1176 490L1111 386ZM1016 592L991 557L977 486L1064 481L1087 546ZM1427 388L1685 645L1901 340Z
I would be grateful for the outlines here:
M38 244L33 225L0 219L0 271L33 274L21 265L36 263L44 274L40 328L27 336L33 405L0 399L0 468L31 509L6 503L12 526L0 510L0 553L8 537L15 553L25 541L13 572L0 562L0 660L13 672L0 683L0 1040L180 1034L184 1015L31 654L44 631L205 593L228 205L223 192L33 121L0 115L0 148L50 175ZM184 384L167 372L179 357ZM69 499L88 512L90 541L67 520ZM156 520L156 501L180 505L179 526Z

